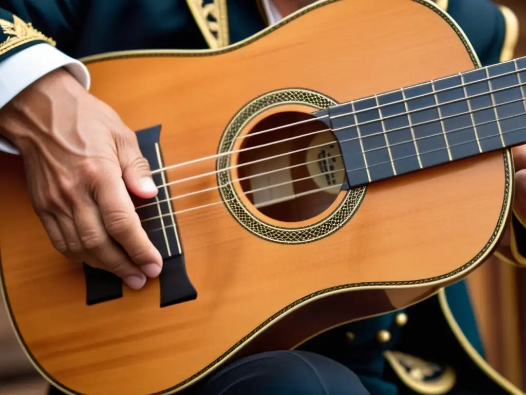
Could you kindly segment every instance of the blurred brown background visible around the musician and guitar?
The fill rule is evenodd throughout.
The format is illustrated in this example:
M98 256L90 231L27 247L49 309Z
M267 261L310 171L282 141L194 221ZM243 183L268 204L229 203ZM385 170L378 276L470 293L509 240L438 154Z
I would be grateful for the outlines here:
M526 0L497 3L517 15L520 33L513 56L526 56ZM488 362L526 392L526 268L490 259L469 277ZM44 395L46 388L18 345L0 300L0 395Z

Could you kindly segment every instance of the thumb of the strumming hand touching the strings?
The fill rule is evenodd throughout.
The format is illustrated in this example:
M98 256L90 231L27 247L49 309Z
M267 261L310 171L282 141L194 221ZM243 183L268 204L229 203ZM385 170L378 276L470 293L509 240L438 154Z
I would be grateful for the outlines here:
M127 139L123 145L119 147L119 162L127 189L141 199L151 199L157 195L157 186L150 165L139 150L135 133L133 139Z

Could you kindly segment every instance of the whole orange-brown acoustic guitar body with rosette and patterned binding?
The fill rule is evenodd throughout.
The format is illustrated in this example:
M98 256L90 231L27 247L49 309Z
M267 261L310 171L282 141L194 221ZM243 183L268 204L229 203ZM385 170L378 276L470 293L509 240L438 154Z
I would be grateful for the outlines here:
M50 244L21 159L0 156L6 307L28 358L67 393L179 392L236 358L427 298L481 264L503 233L509 150L349 190L336 170L320 173L318 163L341 161L318 161L337 158L338 145L316 148L333 137L306 121L313 113L478 66L425 0L321 1L224 50L85 62L92 93L155 152L153 170L168 166L159 196L173 200L149 229L170 247L167 274L97 300L94 274Z

